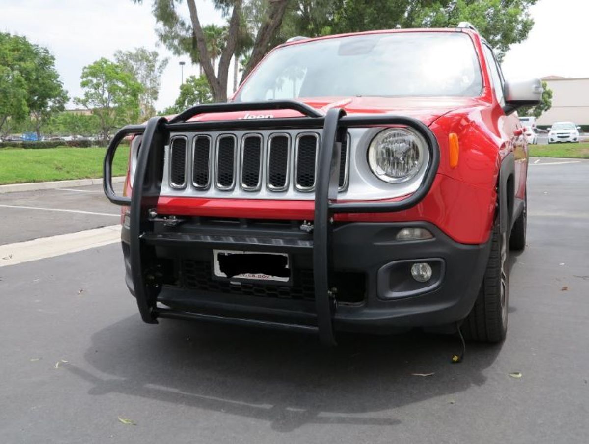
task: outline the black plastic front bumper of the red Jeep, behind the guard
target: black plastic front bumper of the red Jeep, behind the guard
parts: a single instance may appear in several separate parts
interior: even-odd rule
[[[242,221],[243,224],[243,221]],[[289,238],[293,245],[292,224],[273,230],[274,238]],[[434,238],[423,241],[396,241],[403,227],[422,227]],[[267,227],[260,230],[267,233]],[[157,301],[186,313],[205,314],[208,319],[247,319],[315,326],[315,302],[309,292],[284,289],[264,291],[260,287],[240,288],[219,283],[212,278],[210,261],[213,248],[221,245],[194,243],[201,233],[209,238],[230,240],[233,249],[284,251],[293,263],[293,286],[312,283],[313,258],[310,251],[284,247],[237,246],[238,237],[255,236],[256,227],[227,228],[201,222],[187,222],[180,228],[158,227],[146,242],[155,248],[155,256],[165,264]],[[245,231],[244,231],[245,230]],[[282,232],[282,234],[281,234]],[[310,234],[297,234],[305,241]],[[127,267],[127,285],[133,293],[129,255],[129,230],[123,228],[123,252]],[[258,242],[258,244],[263,242]],[[451,240],[437,227],[425,222],[413,223],[342,223],[333,228],[333,283],[335,307],[333,327],[340,331],[393,333],[412,327],[441,327],[464,319],[477,297],[489,254],[489,243],[465,245]],[[227,247],[223,245],[222,247]],[[416,261],[434,265],[434,276],[425,284],[412,279],[409,269]],[[186,268],[186,264],[191,264]],[[209,263],[209,266],[206,266]],[[201,264],[200,274],[194,264]],[[192,267],[192,268],[190,268]],[[203,268],[204,267],[204,268]],[[204,270],[204,272],[203,272]],[[303,273],[306,272],[303,276]],[[347,277],[347,280],[346,280]],[[260,284],[263,287],[263,284]],[[312,288],[312,286],[311,286]]]

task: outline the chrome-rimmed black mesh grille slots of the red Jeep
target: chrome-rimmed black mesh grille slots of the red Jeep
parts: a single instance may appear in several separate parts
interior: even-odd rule
[[[197,190],[209,189],[213,178],[218,190],[230,191],[239,186],[245,191],[257,191],[262,188],[264,176],[270,191],[288,190],[291,177],[297,191],[313,191],[319,147],[317,132],[303,131],[296,135],[274,132],[267,138],[249,133],[239,140],[233,134],[216,138],[197,134],[189,153],[188,139],[174,136],[170,142],[169,181],[172,188],[186,188],[190,163],[192,185]],[[339,190],[348,187],[349,147],[348,134],[340,151]]]

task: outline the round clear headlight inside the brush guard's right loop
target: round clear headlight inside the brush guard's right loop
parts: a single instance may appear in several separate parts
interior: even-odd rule
[[[388,128],[370,142],[368,164],[372,173],[388,183],[415,177],[429,157],[423,137],[409,128]]]

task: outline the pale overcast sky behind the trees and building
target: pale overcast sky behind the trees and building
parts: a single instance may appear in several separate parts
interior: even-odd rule
[[[197,0],[201,22],[220,24],[223,19],[209,1]],[[186,9],[186,4],[180,6]],[[539,0],[532,6],[534,28],[527,41],[513,45],[503,69],[508,78],[589,77],[589,58],[584,57],[589,19],[587,0]],[[82,68],[100,57],[111,58],[117,49],[144,46],[170,58],[162,78],[156,108],[173,104],[184,78],[198,75],[187,57],[171,55],[158,46],[151,15],[151,0],[136,5],[131,0],[0,0],[0,31],[24,35],[55,55],[65,88],[80,95]],[[71,104],[73,106],[73,104]]]

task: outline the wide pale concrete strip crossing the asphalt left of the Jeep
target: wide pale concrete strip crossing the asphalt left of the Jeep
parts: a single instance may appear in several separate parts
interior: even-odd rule
[[[0,245],[0,267],[47,259],[121,241],[121,226],[92,228],[77,233]]]

